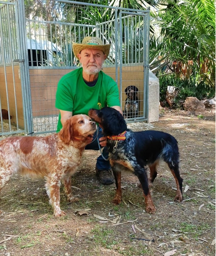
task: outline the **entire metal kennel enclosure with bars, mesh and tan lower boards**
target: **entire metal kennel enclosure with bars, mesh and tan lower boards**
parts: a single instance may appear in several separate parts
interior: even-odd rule
[[[7,108],[12,115],[6,122],[17,127],[13,133],[22,131],[32,135],[56,131],[57,83],[64,74],[80,67],[72,44],[81,43],[86,36],[97,36],[105,44],[111,44],[103,71],[118,83],[122,110],[125,88],[130,85],[138,88],[138,115],[127,122],[148,120],[149,9],[141,11],[67,0],[40,4],[35,1],[25,6],[23,0],[3,3],[0,2],[1,10],[14,6],[15,11],[9,13],[16,17],[15,24],[0,33],[0,72],[3,70],[2,74],[6,74],[5,79],[0,78],[0,108]],[[1,11],[2,28],[14,17]],[[16,31],[15,36],[9,37],[10,30]],[[5,51],[10,41],[13,47]],[[22,95],[22,110],[11,100],[14,96],[7,94],[7,90],[13,90],[6,79],[5,66],[19,67],[17,74],[16,69],[13,71],[12,84],[21,83],[19,93],[14,86],[14,95]],[[5,95],[6,103],[2,100]],[[19,122],[22,118],[23,123]],[[2,128],[0,135],[11,132]]]

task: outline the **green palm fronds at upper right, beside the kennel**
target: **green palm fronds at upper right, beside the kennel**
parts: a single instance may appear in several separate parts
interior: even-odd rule
[[[215,86],[214,2],[167,0],[151,17],[161,27],[160,52],[170,68],[186,77],[200,74]]]

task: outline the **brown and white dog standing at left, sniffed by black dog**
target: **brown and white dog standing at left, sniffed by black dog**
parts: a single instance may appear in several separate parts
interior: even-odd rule
[[[71,176],[81,164],[85,146],[91,142],[97,125],[87,115],[68,119],[59,133],[46,137],[17,136],[0,141],[0,190],[13,174],[45,178],[46,192],[54,216],[60,209],[60,185],[64,183],[69,202],[77,201],[71,192]]]

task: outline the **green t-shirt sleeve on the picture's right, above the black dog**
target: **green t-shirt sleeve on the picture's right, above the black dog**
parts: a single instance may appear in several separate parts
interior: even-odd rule
[[[118,86],[112,78],[109,81],[106,102],[108,107],[121,106],[119,100]]]

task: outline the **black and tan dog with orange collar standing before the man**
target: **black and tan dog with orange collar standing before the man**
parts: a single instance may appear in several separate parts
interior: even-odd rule
[[[146,202],[146,212],[155,213],[149,185],[157,176],[157,166],[160,160],[165,161],[177,185],[175,201],[181,202],[182,181],[179,173],[179,150],[176,139],[165,132],[141,131],[132,132],[127,129],[127,124],[122,115],[111,107],[101,110],[90,109],[88,115],[92,120],[98,122],[107,137],[109,150],[109,161],[115,177],[116,194],[113,199],[115,205],[122,200],[121,172],[129,170],[133,172],[140,181]],[[146,174],[145,166],[150,168],[150,177]]]

